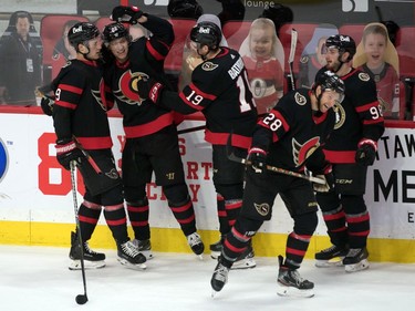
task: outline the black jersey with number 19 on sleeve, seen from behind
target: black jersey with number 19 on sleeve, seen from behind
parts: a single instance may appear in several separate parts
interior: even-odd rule
[[[221,48],[218,55],[194,70],[189,85],[179,94],[164,91],[160,102],[183,114],[200,111],[206,118],[207,142],[226,145],[232,132],[232,145],[248,148],[257,122],[257,108],[248,85],[239,53]]]

